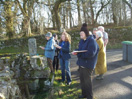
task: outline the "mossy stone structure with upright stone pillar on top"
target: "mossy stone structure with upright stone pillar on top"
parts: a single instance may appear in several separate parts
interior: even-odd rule
[[[10,58],[10,68],[4,66],[4,69],[1,69],[0,99],[23,99],[30,97],[29,91],[48,89],[52,86],[54,76],[50,77],[46,57],[37,55],[36,39],[29,39],[28,46],[29,56],[18,54]]]

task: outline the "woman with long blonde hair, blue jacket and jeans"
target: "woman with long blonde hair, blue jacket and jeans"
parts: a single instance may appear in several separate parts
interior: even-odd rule
[[[60,59],[62,82],[65,82],[65,74],[66,74],[67,85],[70,85],[72,81],[71,72],[70,72],[70,58],[71,58],[69,54],[70,46],[71,46],[70,35],[66,32],[62,33],[61,40],[57,48],[60,49],[58,57]]]

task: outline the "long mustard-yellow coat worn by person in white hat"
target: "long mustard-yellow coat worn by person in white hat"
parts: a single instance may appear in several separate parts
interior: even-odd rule
[[[103,39],[99,38],[97,40],[97,43],[99,45],[99,54],[95,68],[95,74],[104,74],[105,72],[107,72],[107,63],[106,63],[106,52],[104,50]]]

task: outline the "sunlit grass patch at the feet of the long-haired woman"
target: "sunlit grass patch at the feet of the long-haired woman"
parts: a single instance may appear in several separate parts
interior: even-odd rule
[[[81,94],[79,83],[72,81],[70,86],[59,82],[61,79],[61,71],[58,71],[55,76],[53,88],[47,93],[37,94],[34,99],[78,99]]]

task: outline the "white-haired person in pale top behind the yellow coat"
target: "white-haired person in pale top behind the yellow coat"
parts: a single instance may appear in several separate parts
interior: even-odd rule
[[[105,29],[103,26],[99,26],[98,27],[98,30],[102,32],[103,34],[103,41],[104,41],[104,49],[106,51],[106,47],[107,47],[107,44],[108,44],[108,33],[105,32]]]

